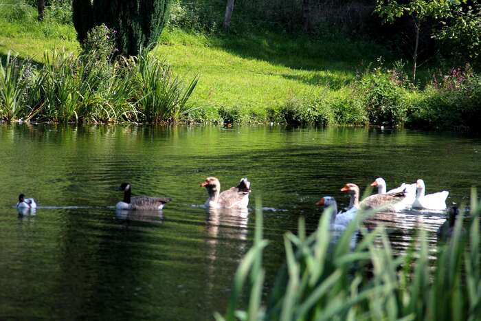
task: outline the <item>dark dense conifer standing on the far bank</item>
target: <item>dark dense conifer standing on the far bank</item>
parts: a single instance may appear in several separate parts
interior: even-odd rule
[[[118,52],[135,56],[157,43],[168,19],[170,0],[74,0],[74,26],[80,43],[104,23],[117,32]]]

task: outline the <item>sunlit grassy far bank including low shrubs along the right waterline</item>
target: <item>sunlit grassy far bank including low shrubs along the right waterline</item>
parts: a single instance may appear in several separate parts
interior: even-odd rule
[[[15,14],[0,8],[3,55],[12,49],[45,64],[44,51],[60,47],[80,52],[70,23],[48,14],[38,23],[28,6]],[[188,101],[188,109],[198,108],[184,120],[449,128],[472,127],[481,116],[481,78],[469,66],[424,69],[413,84],[408,66],[393,63],[388,49],[334,31],[212,34],[169,27],[153,54],[183,79],[199,76]]]

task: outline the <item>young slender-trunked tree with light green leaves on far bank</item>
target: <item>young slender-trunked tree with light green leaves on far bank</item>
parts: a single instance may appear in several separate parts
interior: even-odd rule
[[[396,0],[377,0],[375,11],[389,23],[394,22],[404,15],[412,17],[415,32],[414,52],[412,56],[413,80],[416,80],[421,25],[425,23],[427,18],[441,19],[451,16],[451,9],[458,4],[458,0],[409,0],[407,2],[403,1],[402,3]]]

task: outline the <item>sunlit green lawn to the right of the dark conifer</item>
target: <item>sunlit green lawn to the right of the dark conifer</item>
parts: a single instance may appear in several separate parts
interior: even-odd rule
[[[287,100],[348,95],[356,71],[375,60],[375,49],[270,32],[221,38],[166,30],[153,52],[179,74],[199,75],[192,97],[197,104],[265,109]]]

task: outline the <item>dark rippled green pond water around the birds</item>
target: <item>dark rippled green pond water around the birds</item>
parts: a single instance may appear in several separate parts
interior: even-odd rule
[[[283,262],[282,234],[339,188],[388,188],[423,178],[467,203],[481,179],[481,140],[456,133],[279,127],[0,126],[0,319],[207,320],[224,311],[232,276],[254,236],[254,214],[199,207],[205,177],[224,188],[247,176],[262,197],[268,280]],[[116,214],[115,190],[172,197],[162,213]],[[36,215],[12,208],[19,192]],[[70,206],[71,208],[67,208]],[[75,208],[79,206],[80,208]],[[82,208],[83,207],[83,208]],[[416,228],[436,243],[442,214],[378,214],[396,252]]]

